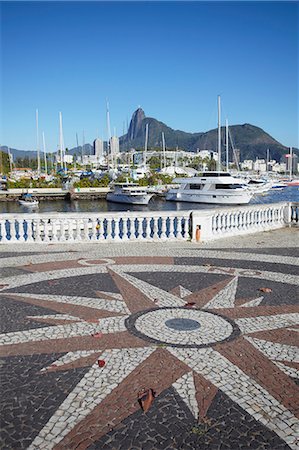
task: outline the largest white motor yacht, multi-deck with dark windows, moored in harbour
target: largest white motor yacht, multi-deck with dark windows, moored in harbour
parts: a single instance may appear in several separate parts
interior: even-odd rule
[[[176,178],[178,188],[166,194],[166,200],[192,203],[243,205],[253,197],[244,182],[228,172],[203,172],[193,178]]]

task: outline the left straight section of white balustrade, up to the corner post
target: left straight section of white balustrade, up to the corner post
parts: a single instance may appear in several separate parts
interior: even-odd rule
[[[0,216],[0,243],[187,240],[190,211],[27,213]]]

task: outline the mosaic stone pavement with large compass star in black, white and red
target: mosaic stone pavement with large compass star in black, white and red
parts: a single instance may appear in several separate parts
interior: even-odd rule
[[[298,449],[288,233],[252,248],[6,246],[0,448]]]

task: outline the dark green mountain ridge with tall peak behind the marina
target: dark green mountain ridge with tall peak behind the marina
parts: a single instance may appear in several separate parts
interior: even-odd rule
[[[161,148],[162,132],[164,132],[167,148],[178,147],[193,152],[198,149],[214,151],[217,149],[217,129],[199,133],[186,133],[181,130],[173,130],[163,122],[146,117],[144,111],[138,108],[132,115],[127,134],[120,137],[120,147],[122,150],[131,147],[144,148],[146,124],[148,124],[149,129],[148,148]],[[232,125],[229,127],[229,132],[234,148],[240,150],[242,161],[244,159],[265,159],[268,148],[270,149],[270,158],[276,161],[280,161],[283,155],[289,153],[288,147],[276,141],[264,130],[254,125],[248,123],[244,125]],[[221,133],[223,137],[222,142],[224,142],[224,127],[221,128]]]

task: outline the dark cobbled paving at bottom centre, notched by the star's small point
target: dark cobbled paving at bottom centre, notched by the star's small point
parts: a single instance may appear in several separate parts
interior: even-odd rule
[[[88,447],[88,450],[287,450],[289,446],[223,393],[208,411],[208,420],[196,422],[173,389],[156,398],[147,414],[141,411]]]

